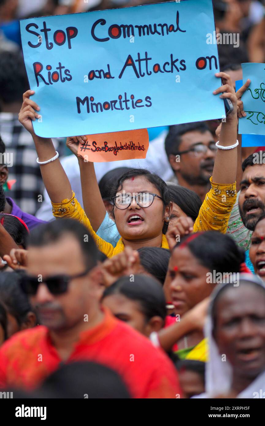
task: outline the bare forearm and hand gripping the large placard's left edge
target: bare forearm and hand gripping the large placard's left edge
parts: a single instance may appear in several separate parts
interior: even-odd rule
[[[20,123],[32,135],[39,161],[48,161],[56,155],[52,139],[40,138],[34,132],[32,120],[39,118],[40,107],[30,99],[34,95],[33,90],[27,90],[23,94],[23,104],[18,115]],[[52,202],[60,203],[63,199],[72,198],[72,189],[69,179],[63,170],[60,160],[57,158],[48,164],[40,165],[40,172],[44,185]]]

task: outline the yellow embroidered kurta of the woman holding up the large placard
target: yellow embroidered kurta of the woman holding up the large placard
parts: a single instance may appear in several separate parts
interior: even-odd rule
[[[236,201],[236,184],[232,185],[217,185],[214,184],[210,178],[211,189],[205,197],[205,201],[202,203],[202,207],[199,211],[193,230],[206,231],[206,230],[218,230],[222,233],[226,232],[228,225],[228,219],[233,205]],[[61,203],[52,203],[53,215],[64,218],[77,219],[83,223],[89,233],[95,240],[98,249],[102,251],[107,257],[115,256],[115,254],[121,253],[124,250],[124,243],[122,238],[119,239],[116,247],[99,237],[93,230],[89,219],[81,207],[75,193],[72,193],[72,198],[63,200]],[[162,235],[161,248],[169,248],[166,236]]]

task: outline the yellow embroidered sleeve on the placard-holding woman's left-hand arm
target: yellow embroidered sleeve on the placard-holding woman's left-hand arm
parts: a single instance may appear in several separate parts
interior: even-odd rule
[[[79,222],[83,223],[95,240],[98,249],[102,251],[102,253],[106,254],[107,257],[112,256],[114,250],[113,245],[100,238],[95,233],[89,222],[89,219],[86,216],[86,213],[84,212],[84,209],[82,209],[81,205],[75,198],[74,192],[72,192],[72,198],[70,200],[65,199],[61,203],[52,203],[52,213],[56,218],[72,218],[77,219]]]

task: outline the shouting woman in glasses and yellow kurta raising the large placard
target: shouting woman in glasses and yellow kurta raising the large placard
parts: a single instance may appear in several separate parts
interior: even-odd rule
[[[229,98],[233,103],[233,111],[222,124],[219,148],[210,178],[212,188],[207,194],[200,213],[194,224],[194,231],[215,229],[225,232],[230,211],[236,200],[236,163],[237,153],[234,149],[238,142],[236,95],[231,79],[224,72],[216,74],[222,78],[223,85],[213,94],[220,94],[220,98]],[[225,93],[223,93],[225,92]],[[124,246],[138,249],[141,247],[168,248],[165,232],[170,218],[170,196],[167,185],[157,175],[147,170],[135,169],[125,173],[118,181],[113,194],[113,213],[121,239],[113,247],[101,239],[93,230],[85,211],[81,208],[72,193],[72,188],[63,167],[58,160],[58,153],[51,139],[40,138],[35,135],[32,121],[39,117],[40,107],[30,99],[33,91],[23,95],[23,104],[19,114],[20,123],[32,134],[38,154],[37,162],[43,177],[46,190],[52,201],[52,211],[55,217],[72,217],[83,222],[92,234],[98,248],[108,257],[124,250]],[[73,142],[83,142],[85,136],[71,138]],[[88,163],[79,161],[81,169],[81,183],[83,199],[86,203],[85,179]],[[89,182],[90,184],[91,182]],[[103,202],[101,200],[101,202]],[[86,210],[86,207],[85,207]],[[84,236],[85,238],[85,236]]]

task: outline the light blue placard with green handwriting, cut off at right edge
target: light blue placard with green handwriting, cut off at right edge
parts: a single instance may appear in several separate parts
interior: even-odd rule
[[[251,84],[242,96],[247,116],[239,120],[239,133],[265,135],[265,63],[242,63],[243,80]]]

